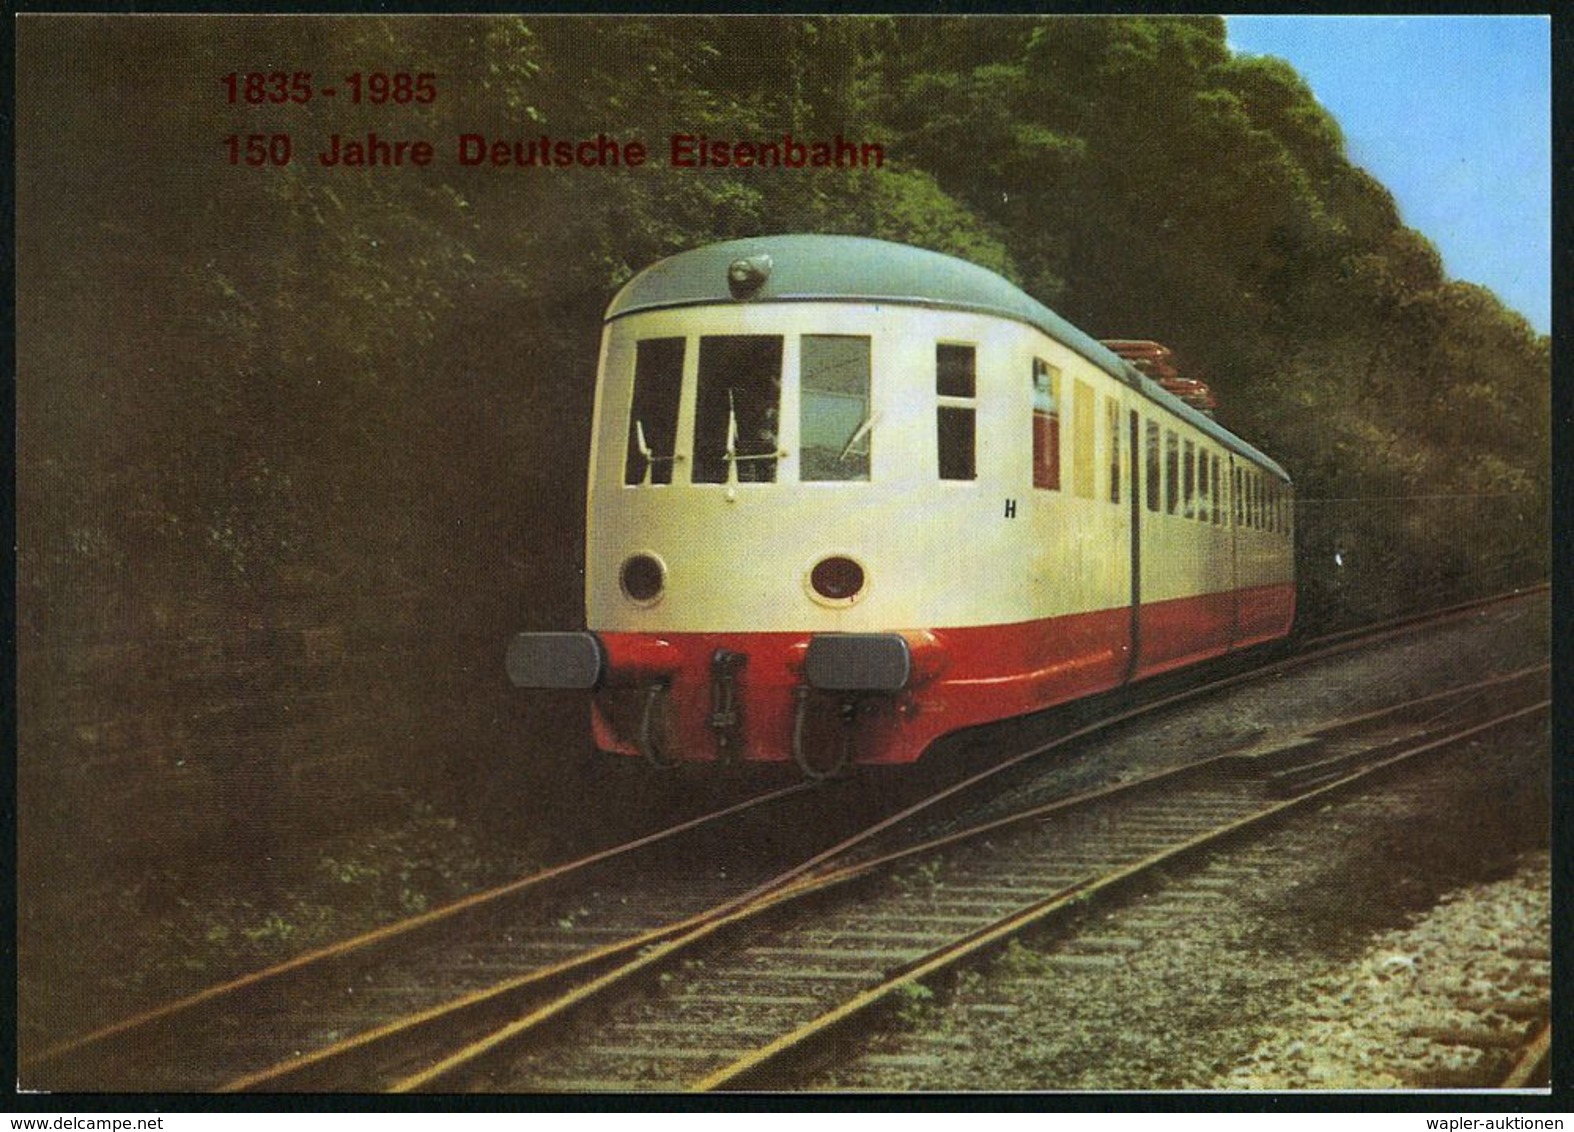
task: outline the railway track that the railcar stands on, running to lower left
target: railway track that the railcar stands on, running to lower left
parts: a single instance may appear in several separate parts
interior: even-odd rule
[[[1385,634],[1407,631],[1413,623],[1388,627]],[[1299,657],[1267,671],[1284,671],[1369,639],[1311,642]],[[733,924],[817,899],[817,893],[853,883],[863,869],[892,867],[847,861],[858,855],[894,861],[916,852],[907,845],[881,856],[878,847],[900,845],[897,831],[911,830],[919,814],[938,819],[948,803],[971,797],[976,787],[1050,749],[1261,675],[1228,677],[1062,735],[784,867],[735,867],[730,877],[721,871],[683,874],[682,885],[671,883],[674,874],[663,860],[671,864],[688,858],[694,838],[724,845],[729,822],[787,805],[806,787],[773,790],[60,1044],[24,1063],[22,1078],[28,1086],[57,1089],[427,1088],[512,1045],[519,1033],[546,1030],[543,1022],[575,1015],[582,1003],[600,1001],[642,971],[653,971],[658,986],[661,976],[677,978],[672,964],[689,962],[696,945]],[[1165,771],[1155,781],[1195,773]],[[1018,816],[1007,823],[1020,820],[1034,819]],[[833,869],[833,863],[841,867]],[[809,880],[814,871],[829,872]],[[1053,886],[1055,879],[1048,880]],[[1091,874],[1073,879],[1062,896],[1075,899],[1089,883]],[[916,959],[903,962],[913,967]],[[831,982],[845,986],[841,976]],[[749,1006],[749,995],[737,992],[729,1001]],[[455,1045],[464,1047],[464,1056],[452,1053]],[[444,1069],[433,1074],[436,1066]]]

